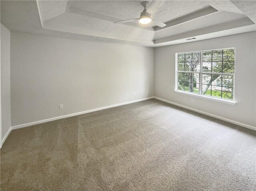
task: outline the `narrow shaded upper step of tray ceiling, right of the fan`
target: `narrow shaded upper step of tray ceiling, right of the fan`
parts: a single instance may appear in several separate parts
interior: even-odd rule
[[[212,13],[215,13],[215,12],[218,12],[218,10],[216,10],[215,8],[209,6],[207,8],[198,10],[198,11],[193,12],[191,14],[188,14],[188,15],[182,16],[180,18],[177,18],[175,20],[169,21],[169,22],[165,23],[166,24],[165,27],[158,27],[158,26],[154,27],[154,30],[155,31],[164,30],[166,28],[169,28],[169,27],[172,27],[172,26],[176,26],[178,24],[182,24],[184,22],[188,22],[188,21],[200,18],[202,16],[206,16],[208,14],[212,14]]]

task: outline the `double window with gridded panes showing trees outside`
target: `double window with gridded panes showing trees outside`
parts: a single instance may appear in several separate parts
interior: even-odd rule
[[[176,91],[234,100],[234,48],[177,53],[176,65]]]

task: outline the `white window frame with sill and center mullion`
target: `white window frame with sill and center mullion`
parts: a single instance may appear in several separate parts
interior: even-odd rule
[[[200,51],[187,51],[187,52],[179,52],[179,53],[188,53],[188,52],[200,52],[200,72],[190,72],[190,73],[199,73],[199,93],[192,93],[192,92],[187,92],[187,91],[180,91],[178,90],[178,54],[175,54],[175,90],[174,92],[176,93],[180,93],[180,94],[184,94],[184,95],[190,95],[190,96],[195,96],[195,97],[200,97],[200,98],[204,98],[204,99],[208,99],[208,100],[213,100],[213,101],[218,101],[218,102],[222,102],[222,103],[227,103],[227,104],[236,104],[235,102],[235,65],[236,65],[236,49],[235,49],[235,60],[234,60],[234,73],[230,74],[230,73],[218,73],[220,75],[233,75],[233,81],[234,81],[234,85],[233,85],[233,100],[230,99],[225,99],[225,98],[218,98],[218,97],[214,97],[214,96],[208,96],[208,95],[203,95],[202,94],[202,74],[216,74],[216,73],[212,73],[212,72],[203,72],[202,71],[202,52],[203,51],[214,51],[214,50],[223,50],[223,49],[235,49],[234,47],[232,48],[220,48],[220,49],[211,49],[211,50],[200,50]]]

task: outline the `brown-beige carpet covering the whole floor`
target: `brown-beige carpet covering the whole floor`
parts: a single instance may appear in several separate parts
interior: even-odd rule
[[[13,130],[1,191],[256,189],[255,132],[156,99]]]

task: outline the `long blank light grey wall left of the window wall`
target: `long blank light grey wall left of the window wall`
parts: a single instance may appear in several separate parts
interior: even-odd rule
[[[153,96],[153,75],[153,48],[12,32],[12,126]]]

